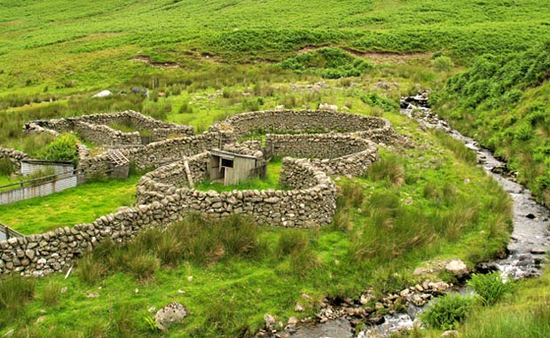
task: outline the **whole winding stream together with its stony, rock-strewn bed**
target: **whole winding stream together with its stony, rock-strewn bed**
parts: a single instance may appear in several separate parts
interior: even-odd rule
[[[546,251],[550,248],[550,211],[539,205],[528,189],[515,182],[513,173],[508,172],[504,161],[499,161],[493,154],[480,146],[473,138],[452,130],[447,122],[438,118],[428,106],[428,93],[401,99],[401,114],[405,114],[420,123],[421,128],[444,130],[459,139],[477,154],[478,165],[491,175],[510,194],[514,205],[514,231],[507,245],[507,257],[497,261],[481,263],[476,272],[501,271],[504,279],[522,279],[537,277],[542,273]],[[436,269],[454,269],[460,277],[460,271],[468,275],[468,269],[460,261],[444,262]],[[414,274],[414,273],[413,273]],[[452,286],[441,281],[424,280],[413,287],[408,287],[396,295],[386,295],[375,299],[369,290],[358,300],[327,300],[321,304],[317,318],[297,320],[290,318],[287,326],[281,329],[282,323],[266,315],[266,329],[256,334],[258,337],[288,338],[373,338],[387,337],[390,334],[413,327],[415,318],[430,300],[446,292],[466,292],[464,287]],[[373,308],[365,307],[376,301]],[[393,309],[396,304],[406,311],[387,311],[388,314],[377,315],[376,310]],[[354,328],[355,327],[355,328]],[[358,329],[363,327],[362,329]],[[279,330],[278,330],[279,328]]]

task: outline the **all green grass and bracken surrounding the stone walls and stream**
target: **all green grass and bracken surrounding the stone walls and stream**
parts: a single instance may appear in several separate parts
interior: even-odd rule
[[[318,230],[190,216],[126,246],[103,242],[68,279],[2,278],[0,334],[249,337],[265,313],[314,317],[326,299],[413,286],[426,262],[504,255],[507,194],[460,142],[398,114],[398,100],[432,90],[437,114],[550,205],[549,36],[550,2],[536,0],[0,0],[0,145],[33,157],[53,142],[23,132],[36,119],[132,109],[202,132],[232,114],[319,103],[387,118],[412,146],[381,147],[380,163],[338,178],[334,222]],[[91,98],[99,90],[114,95]],[[198,186],[273,188],[279,169]],[[17,180],[4,171],[0,183]],[[132,203],[138,178],[3,206],[0,221],[24,233],[90,222]],[[546,336],[548,276],[476,307],[460,332]],[[191,315],[161,333],[148,310],[172,301]]]

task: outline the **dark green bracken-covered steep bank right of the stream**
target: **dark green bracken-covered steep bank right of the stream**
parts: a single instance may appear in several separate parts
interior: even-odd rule
[[[434,98],[439,114],[475,135],[518,171],[518,178],[550,205],[547,80],[550,42],[527,51],[488,54],[453,76]]]

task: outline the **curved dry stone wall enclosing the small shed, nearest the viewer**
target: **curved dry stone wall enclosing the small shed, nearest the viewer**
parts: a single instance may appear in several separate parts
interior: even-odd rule
[[[279,185],[292,190],[245,190],[226,193],[199,191],[188,184],[184,162],[193,180],[206,177],[208,153],[200,154],[146,174],[137,186],[138,203],[169,200],[179,214],[190,212],[220,218],[247,215],[257,224],[286,227],[318,227],[329,224],[336,209],[334,182],[306,159],[283,160]]]

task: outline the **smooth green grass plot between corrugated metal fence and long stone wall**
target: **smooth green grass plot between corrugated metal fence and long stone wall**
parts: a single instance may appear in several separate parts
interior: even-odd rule
[[[133,203],[138,180],[135,176],[127,180],[86,183],[61,193],[0,206],[1,221],[27,235],[89,223]]]

